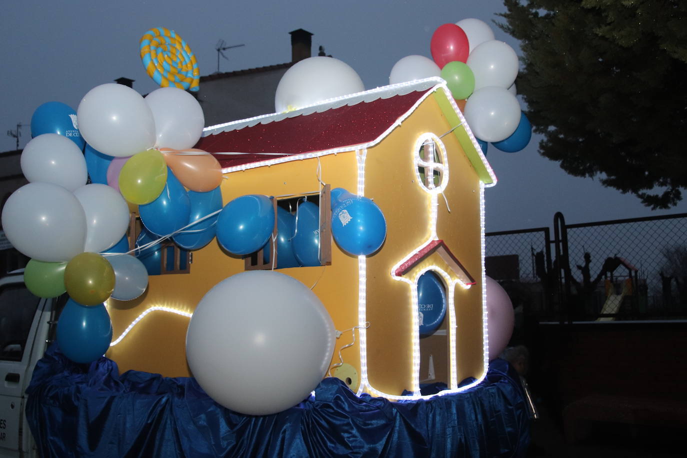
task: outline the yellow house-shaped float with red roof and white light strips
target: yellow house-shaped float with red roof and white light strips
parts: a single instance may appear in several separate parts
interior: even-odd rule
[[[341,331],[333,375],[357,393],[387,398],[420,396],[421,382],[444,382],[441,393],[455,393],[484,378],[484,187],[496,179],[443,80],[212,126],[196,147],[223,167],[224,204],[245,194],[324,196],[322,215],[322,191],[343,187],[383,211],[387,235],[375,253],[339,249],[322,220],[321,247],[330,242],[323,265],[279,270],[312,287]],[[150,276],[135,301],[111,299],[116,345],[108,356],[122,370],[188,376],[187,317],[207,290],[247,266],[213,240],[192,253],[188,273]],[[420,337],[418,278],[427,271],[440,279],[447,311]],[[459,388],[466,378],[475,381]]]

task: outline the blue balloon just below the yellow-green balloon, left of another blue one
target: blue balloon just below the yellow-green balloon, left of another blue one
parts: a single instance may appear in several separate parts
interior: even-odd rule
[[[167,169],[167,183],[155,201],[138,206],[141,222],[148,231],[168,236],[188,225],[191,202],[183,185]]]

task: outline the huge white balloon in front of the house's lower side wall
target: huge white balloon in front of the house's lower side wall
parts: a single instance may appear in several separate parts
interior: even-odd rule
[[[186,358],[216,402],[269,415],[308,397],[326,374],[334,343],[334,323],[310,288],[282,273],[246,271],[201,299]]]

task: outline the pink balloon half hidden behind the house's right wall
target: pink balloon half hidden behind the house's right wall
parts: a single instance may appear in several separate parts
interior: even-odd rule
[[[506,350],[513,335],[515,312],[506,290],[498,282],[486,277],[486,329],[489,334],[489,360]]]

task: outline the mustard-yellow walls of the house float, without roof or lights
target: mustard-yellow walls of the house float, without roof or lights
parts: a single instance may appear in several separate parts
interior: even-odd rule
[[[365,288],[365,320],[370,322],[366,332],[368,379],[374,389],[383,393],[400,394],[403,389],[413,386],[412,314],[416,310],[412,307],[411,287],[392,278],[392,267],[414,252],[430,235],[430,196],[416,183],[414,145],[423,133],[441,136],[455,126],[451,125],[455,119],[447,119],[445,111],[439,109],[442,97],[435,95],[426,98],[401,126],[366,152],[364,194],[374,199],[387,220],[387,238],[383,247],[366,259]],[[443,102],[446,103],[445,100]],[[466,134],[461,133],[460,128],[442,137],[449,163],[449,183],[444,195],[451,211],[447,211],[444,199],[439,196],[437,221],[438,238],[444,240],[475,279],[471,288],[455,286],[452,305],[456,319],[458,380],[451,380],[454,383],[469,376],[480,378],[486,369],[480,177],[466,157],[459,137],[465,141]],[[322,156],[319,159],[322,181],[355,193],[358,187],[357,154],[361,154],[361,151]],[[226,174],[227,179],[222,185],[223,201],[226,204],[245,194],[282,196],[313,192],[319,189],[317,168],[317,159],[304,159]],[[343,253],[334,242],[332,252],[330,266],[284,268],[279,271],[292,275],[307,286],[317,283],[313,291],[326,306],[336,328],[345,330],[359,324],[359,260]],[[416,272],[431,264],[453,275],[451,268],[437,253],[414,266],[407,275],[412,278]],[[207,290],[243,270],[243,260],[227,255],[215,239],[207,247],[194,251],[191,273],[150,276],[148,290],[141,298],[128,302],[111,300],[109,311],[113,335],[119,336],[129,323],[150,306],[168,306],[192,312]],[[250,307],[250,304],[245,306]],[[445,322],[447,320],[448,314]],[[121,371],[137,369],[164,376],[189,376],[185,360],[187,326],[186,317],[166,312],[150,313],[121,343],[111,347],[107,356],[118,363]],[[453,332],[451,323],[443,328]],[[212,336],[209,338],[212,339]],[[338,362],[339,348],[348,343],[350,332],[337,340],[333,363]],[[345,363],[353,365],[361,374],[359,343],[360,339],[357,339],[354,346],[343,350],[342,356]],[[288,345],[288,342],[283,345]],[[431,347],[435,361],[449,358],[449,349],[437,354],[441,351],[440,345]],[[427,354],[422,356],[424,366],[427,358]]]

